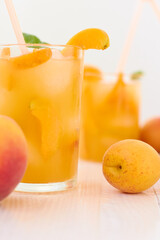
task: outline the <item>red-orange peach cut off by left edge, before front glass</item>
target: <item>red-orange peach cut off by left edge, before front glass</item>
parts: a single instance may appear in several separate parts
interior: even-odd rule
[[[21,181],[27,166],[27,142],[18,124],[0,115],[0,200]]]

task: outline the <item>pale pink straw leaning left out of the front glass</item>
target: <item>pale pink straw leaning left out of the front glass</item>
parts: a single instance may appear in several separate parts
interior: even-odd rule
[[[12,0],[5,0],[5,4],[6,4],[7,10],[8,10],[8,14],[9,14],[16,38],[17,38],[17,42],[18,42],[18,44],[25,44],[22,30],[21,30]],[[22,54],[28,53],[28,49],[25,45],[19,45],[19,47],[20,47]]]

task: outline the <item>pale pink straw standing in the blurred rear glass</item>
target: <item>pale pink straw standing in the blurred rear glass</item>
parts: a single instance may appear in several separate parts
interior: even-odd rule
[[[119,60],[118,66],[117,66],[117,72],[123,72],[124,71],[124,67],[126,65],[128,55],[129,55],[129,51],[130,51],[130,48],[131,48],[131,45],[132,45],[132,42],[133,42],[133,38],[135,36],[135,32],[136,32],[136,29],[137,29],[137,25],[139,23],[139,19],[140,19],[141,13],[142,13],[143,2],[144,1],[145,0],[140,0],[139,1],[137,9],[136,9],[136,11],[133,15],[133,19],[131,21],[131,25],[130,25],[129,32],[128,32],[128,35],[127,35],[127,39],[125,41],[125,44],[124,44],[124,47],[123,47],[123,50],[122,50],[122,54],[121,54],[121,57],[120,57],[120,60]]]

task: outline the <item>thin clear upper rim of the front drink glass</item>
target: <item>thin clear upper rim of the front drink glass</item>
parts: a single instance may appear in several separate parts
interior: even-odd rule
[[[67,44],[46,44],[46,43],[9,43],[9,44],[0,44],[0,47],[18,47],[18,46],[27,46],[27,47],[67,47],[67,48],[77,48],[78,50],[84,51],[83,48],[76,45],[67,45]]]

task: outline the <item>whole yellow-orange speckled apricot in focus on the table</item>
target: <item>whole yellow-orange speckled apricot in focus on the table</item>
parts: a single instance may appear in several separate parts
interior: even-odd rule
[[[160,178],[160,156],[147,143],[123,140],[106,151],[103,174],[112,186],[122,192],[142,192]]]

